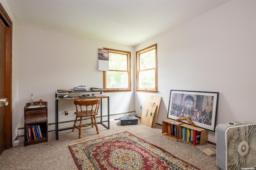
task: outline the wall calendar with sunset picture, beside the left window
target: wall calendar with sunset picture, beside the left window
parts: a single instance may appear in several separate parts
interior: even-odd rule
[[[109,52],[106,49],[98,50],[98,70],[108,71]]]

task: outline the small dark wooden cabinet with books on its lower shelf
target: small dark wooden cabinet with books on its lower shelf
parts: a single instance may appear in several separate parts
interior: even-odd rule
[[[33,103],[34,106],[38,102]],[[26,103],[24,107],[24,146],[37,144],[40,142],[48,142],[48,111],[47,102],[44,102],[44,107],[29,108],[30,103]],[[41,138],[34,138],[31,130],[31,140],[28,140],[28,127],[38,126],[42,134]]]

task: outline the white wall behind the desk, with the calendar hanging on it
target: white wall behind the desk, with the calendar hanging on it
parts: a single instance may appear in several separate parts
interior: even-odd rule
[[[24,127],[24,105],[30,102],[30,93],[34,93],[34,101],[39,99],[48,101],[48,123],[55,123],[57,89],[70,89],[76,85],[86,85],[88,89],[103,88],[103,72],[98,71],[99,48],[106,47],[134,53],[134,47],[131,46],[28,26],[19,26],[19,40],[19,128]],[[132,63],[134,63],[133,57]],[[132,64],[132,69],[134,65]],[[133,91],[104,93],[104,95],[110,96],[110,114],[134,111]],[[105,111],[103,114],[106,115],[106,100],[103,103],[103,111]],[[67,116],[64,114],[65,110],[69,111]],[[59,102],[59,121],[74,120],[74,110],[73,102]]]

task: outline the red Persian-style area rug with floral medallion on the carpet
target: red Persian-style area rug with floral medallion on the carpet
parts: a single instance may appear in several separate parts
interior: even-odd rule
[[[127,131],[68,147],[82,170],[199,170]]]

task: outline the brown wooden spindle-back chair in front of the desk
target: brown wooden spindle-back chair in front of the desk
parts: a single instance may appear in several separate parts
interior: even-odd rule
[[[74,129],[77,128],[79,130],[79,138],[81,138],[82,127],[95,126],[97,130],[97,134],[99,134],[95,116],[98,115],[100,100],[101,99],[74,101],[74,104],[76,105],[76,112],[75,112],[76,120],[72,129],[72,132],[74,132]],[[76,126],[76,121],[77,121],[77,118],[79,117],[80,117],[80,125]],[[82,125],[82,118],[84,117],[91,117],[92,123],[87,125]]]

